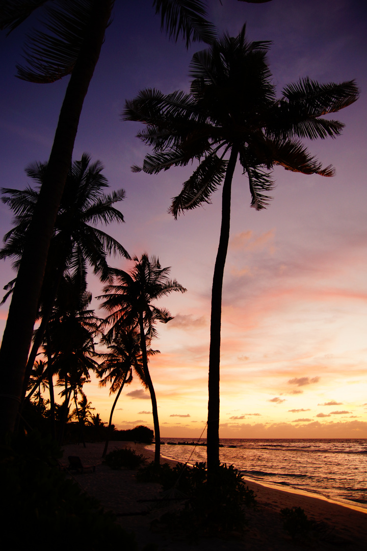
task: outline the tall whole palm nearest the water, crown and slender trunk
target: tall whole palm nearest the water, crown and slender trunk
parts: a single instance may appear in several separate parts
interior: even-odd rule
[[[270,170],[281,165],[303,174],[332,176],[298,138],[336,137],[343,124],[323,118],[358,98],[354,81],[318,84],[308,78],[288,85],[276,99],[267,64],[270,42],[248,42],[245,26],[237,37],[224,35],[194,54],[190,94],[163,95],[143,90],[127,101],[124,120],[144,122],[138,137],[154,151],[146,155],[144,170],[157,174],[193,159],[198,167],[184,182],[171,204],[175,218],[185,210],[210,203],[223,182],[220,242],[215,262],[210,324],[207,466],[219,464],[221,301],[231,214],[231,186],[239,159],[248,177],[251,207],[266,208],[273,180]]]

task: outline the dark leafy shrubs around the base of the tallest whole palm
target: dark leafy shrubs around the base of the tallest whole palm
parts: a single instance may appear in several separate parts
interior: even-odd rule
[[[253,490],[245,486],[242,474],[233,465],[221,465],[210,477],[208,481],[205,463],[195,463],[193,468],[178,463],[172,469],[168,463],[160,467],[150,463],[138,471],[136,478],[160,482],[162,500],[183,501],[182,510],[161,518],[167,526],[184,526],[190,535],[242,531],[246,526],[245,506],[256,504]]]

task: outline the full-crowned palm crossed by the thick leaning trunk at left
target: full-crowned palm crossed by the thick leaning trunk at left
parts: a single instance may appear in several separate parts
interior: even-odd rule
[[[1,190],[2,202],[8,204],[16,215],[16,225],[4,236],[5,246],[0,251],[0,259],[14,258],[13,267],[16,270],[23,256],[25,236],[35,212],[46,171],[47,163],[31,164],[26,168],[26,174],[36,182],[35,188],[28,186],[25,190],[10,188]],[[124,190],[114,191],[111,194],[104,193],[108,182],[102,171],[101,161],[91,163],[90,155],[86,153],[82,155],[80,161],[74,161],[70,166],[48,251],[38,316],[41,317],[41,324],[35,334],[28,358],[24,390],[41,345],[63,273],[69,273],[74,279],[77,277],[80,284],[84,285],[86,284],[86,266],[90,264],[94,273],[106,282],[109,279],[107,254],[130,258],[128,252],[116,239],[96,228],[98,223],[124,222],[122,213],[114,207],[114,204],[123,201]],[[8,293],[3,301],[12,293],[14,283],[15,279],[7,285]]]

